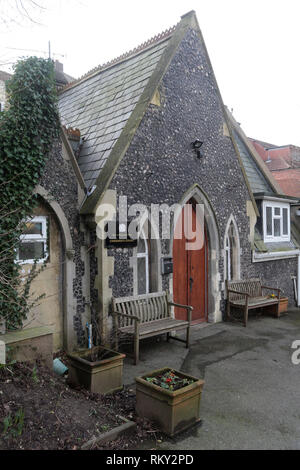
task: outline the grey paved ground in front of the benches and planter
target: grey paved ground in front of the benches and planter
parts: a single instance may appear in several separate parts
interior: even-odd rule
[[[300,340],[300,310],[279,320],[250,319],[248,327],[195,327],[189,351],[165,341],[142,347],[141,362],[126,360],[125,383],[165,365],[205,380],[202,426],[159,449],[300,449],[300,364],[291,349]]]

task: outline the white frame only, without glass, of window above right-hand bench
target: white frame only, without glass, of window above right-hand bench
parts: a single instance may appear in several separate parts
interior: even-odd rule
[[[267,234],[267,207],[272,208],[272,235]],[[280,209],[280,215],[275,214],[275,208]],[[283,234],[283,209],[287,209],[288,233]],[[280,220],[280,235],[274,235],[274,219]],[[291,240],[290,204],[275,201],[263,201],[263,232],[264,242],[289,242]]]

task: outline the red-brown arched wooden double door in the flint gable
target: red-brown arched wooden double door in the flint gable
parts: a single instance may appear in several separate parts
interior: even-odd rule
[[[182,209],[178,218],[173,240],[173,298],[174,302],[193,307],[192,320],[202,322],[207,320],[207,236],[205,227],[197,222],[196,205],[190,201],[190,210]],[[188,214],[187,214],[188,212]],[[186,220],[186,222],[185,222]],[[189,229],[185,229],[185,223]],[[191,232],[197,231],[201,240],[200,248],[191,249],[194,240]],[[182,235],[176,238],[175,234]],[[194,245],[195,247],[196,245]],[[175,317],[186,319],[184,309],[175,308]]]

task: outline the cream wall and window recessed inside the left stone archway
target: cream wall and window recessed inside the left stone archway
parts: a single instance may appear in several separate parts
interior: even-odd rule
[[[31,306],[23,327],[48,326],[53,331],[54,351],[63,347],[63,245],[55,212],[42,198],[28,218],[18,248],[21,281],[33,269],[37,276],[30,286]],[[34,260],[36,266],[34,268]]]

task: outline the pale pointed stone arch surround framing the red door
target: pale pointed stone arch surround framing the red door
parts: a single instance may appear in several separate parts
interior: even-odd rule
[[[200,187],[195,184],[193,185],[182,197],[180,201],[181,209],[184,207],[185,204],[192,202],[193,204],[197,203],[202,205],[203,208],[203,234],[204,234],[204,246],[205,252],[202,252],[202,256],[205,255],[204,262],[205,262],[205,319],[201,319],[200,321],[208,321],[208,322],[217,322],[222,320],[222,313],[221,313],[221,290],[220,290],[220,269],[219,269],[219,259],[220,259],[220,236],[219,230],[216,222],[216,217],[214,210],[211,206],[211,203],[207,197],[207,195],[200,189]],[[179,211],[180,212],[180,211]],[[174,254],[174,242],[176,247],[176,241],[174,239],[174,233],[176,229],[176,225],[179,219],[179,212],[175,214],[174,222],[173,222],[173,238],[171,240],[170,246],[170,253]],[[174,259],[173,259],[174,261]],[[196,262],[197,263],[197,262]],[[176,289],[176,261],[175,266],[173,266],[173,276],[170,279],[170,292],[173,295],[173,299],[176,299],[176,293],[174,297],[174,288]],[[203,273],[203,261],[202,261],[202,273]],[[193,277],[193,276],[192,276]],[[175,281],[175,283],[174,283]],[[189,281],[189,279],[188,279]],[[195,280],[194,280],[195,282]],[[193,285],[195,285],[193,283]],[[176,314],[176,312],[175,312]],[[203,317],[203,315],[202,315]],[[196,322],[199,319],[195,320]]]

